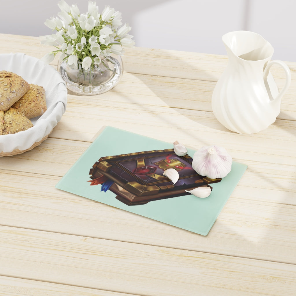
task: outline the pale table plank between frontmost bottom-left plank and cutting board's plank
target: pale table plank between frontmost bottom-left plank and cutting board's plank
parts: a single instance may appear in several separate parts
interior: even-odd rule
[[[158,296],[288,295],[296,287],[292,264],[4,226],[0,237],[2,272],[26,270],[37,281]]]

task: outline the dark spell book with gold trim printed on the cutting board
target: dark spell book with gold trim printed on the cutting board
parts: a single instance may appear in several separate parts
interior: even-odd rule
[[[200,186],[218,183],[222,179],[200,176],[192,168],[192,158],[178,156],[174,149],[152,150],[101,157],[89,171],[90,185],[101,184],[101,191],[112,191],[126,205],[144,205],[155,200],[179,197]],[[168,168],[178,171],[173,182],[163,176]]]

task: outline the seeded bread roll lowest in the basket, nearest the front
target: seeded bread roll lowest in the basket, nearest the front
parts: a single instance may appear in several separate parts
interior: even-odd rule
[[[31,121],[23,113],[14,108],[9,108],[7,111],[0,111],[0,135],[18,133],[32,126]]]

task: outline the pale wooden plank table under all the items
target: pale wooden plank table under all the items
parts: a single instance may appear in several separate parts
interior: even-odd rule
[[[51,50],[35,37],[0,40],[0,53]],[[0,158],[1,296],[296,295],[296,63],[276,122],[241,135],[211,111],[227,61],[128,49],[115,89],[69,94],[46,141]],[[217,144],[248,165],[206,237],[55,189],[103,126],[193,149]]]

